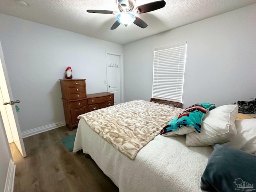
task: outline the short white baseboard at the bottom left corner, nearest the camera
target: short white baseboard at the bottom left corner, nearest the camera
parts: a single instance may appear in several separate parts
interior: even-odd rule
[[[16,168],[16,165],[14,165],[14,161],[10,159],[8,172],[6,176],[6,182],[4,186],[4,192],[13,192],[15,168]]]

